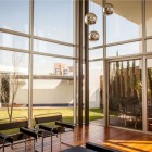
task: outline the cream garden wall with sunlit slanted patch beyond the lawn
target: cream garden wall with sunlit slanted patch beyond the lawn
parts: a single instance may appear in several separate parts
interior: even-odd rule
[[[33,103],[45,104],[72,104],[73,80],[34,80]],[[28,104],[28,81],[22,85],[15,98],[16,104]]]

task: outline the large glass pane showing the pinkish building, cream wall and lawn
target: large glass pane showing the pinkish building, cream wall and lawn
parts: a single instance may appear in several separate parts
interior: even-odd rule
[[[34,55],[34,115],[61,112],[73,122],[73,71],[72,60]]]

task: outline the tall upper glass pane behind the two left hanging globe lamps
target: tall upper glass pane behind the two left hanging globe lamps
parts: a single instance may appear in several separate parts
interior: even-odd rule
[[[100,39],[98,41],[89,41],[89,47],[103,45],[103,16],[101,4],[102,0],[89,1],[89,12],[94,13],[97,15],[97,23],[94,25],[89,26],[89,33],[92,30],[97,30],[100,35]]]

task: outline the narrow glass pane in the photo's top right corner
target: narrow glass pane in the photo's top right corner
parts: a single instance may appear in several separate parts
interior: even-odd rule
[[[152,36],[152,0],[145,0],[147,36]]]

